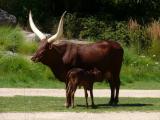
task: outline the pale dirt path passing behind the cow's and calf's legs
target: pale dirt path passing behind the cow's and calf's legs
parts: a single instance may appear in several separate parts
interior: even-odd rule
[[[110,97],[109,89],[94,89],[95,97]],[[55,96],[65,97],[64,89],[17,89],[17,88],[0,88],[0,96]],[[83,97],[83,89],[78,89],[75,96]],[[120,97],[150,97],[160,98],[160,90],[120,90]]]

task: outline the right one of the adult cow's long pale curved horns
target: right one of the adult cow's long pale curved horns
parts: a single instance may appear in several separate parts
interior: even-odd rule
[[[48,39],[49,43],[52,43],[53,41],[57,40],[58,38],[60,38],[62,36],[62,34],[63,34],[63,18],[64,18],[64,15],[66,12],[67,11],[65,11],[61,16],[57,33]]]

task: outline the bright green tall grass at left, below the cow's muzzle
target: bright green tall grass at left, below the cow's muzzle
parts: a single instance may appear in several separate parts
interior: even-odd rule
[[[1,87],[51,87],[54,79],[52,72],[42,64],[13,53],[0,55]]]

